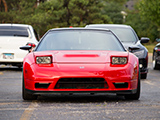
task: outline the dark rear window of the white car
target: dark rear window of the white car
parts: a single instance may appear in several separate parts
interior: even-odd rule
[[[28,28],[17,26],[0,26],[0,36],[29,37]]]

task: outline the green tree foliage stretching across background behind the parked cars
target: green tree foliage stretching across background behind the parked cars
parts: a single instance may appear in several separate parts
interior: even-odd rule
[[[0,5],[1,23],[31,24],[42,36],[57,27],[83,27],[87,24],[123,23],[121,11],[128,0],[6,0],[8,12]],[[137,0],[135,10],[126,11],[125,24],[131,25],[138,36],[160,37],[160,1]],[[158,31],[159,30],[159,31]]]

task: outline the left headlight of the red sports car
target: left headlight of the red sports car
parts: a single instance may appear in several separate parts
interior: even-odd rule
[[[36,63],[37,64],[51,64],[51,56],[45,56],[45,57],[36,57]]]

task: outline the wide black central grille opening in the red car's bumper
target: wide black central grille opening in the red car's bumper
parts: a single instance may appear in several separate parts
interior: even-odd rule
[[[55,89],[104,89],[108,84],[104,78],[61,78]]]

